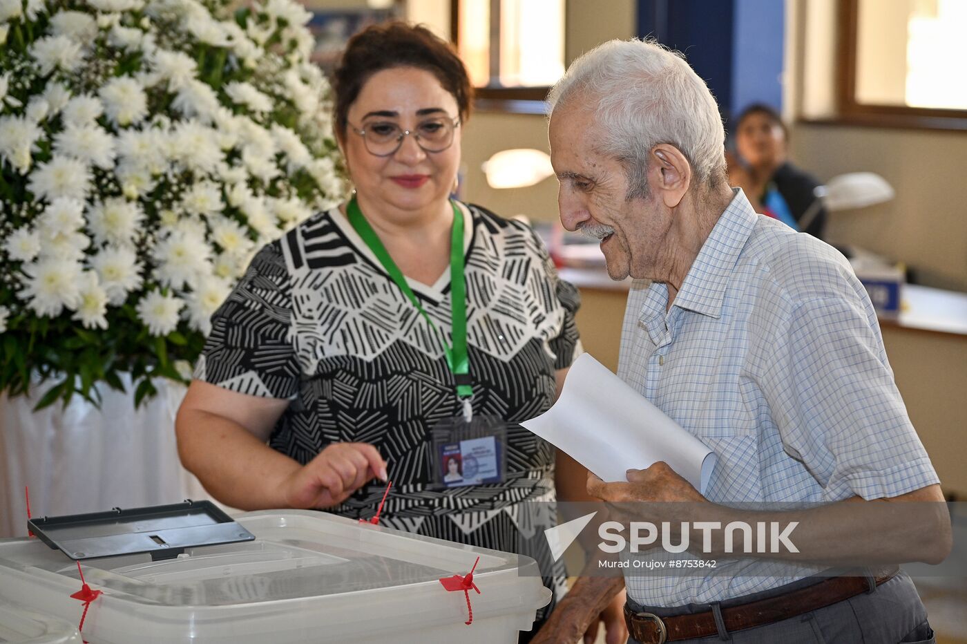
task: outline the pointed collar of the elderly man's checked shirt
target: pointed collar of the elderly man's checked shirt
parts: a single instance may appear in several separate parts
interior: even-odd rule
[[[721,316],[725,287],[759,217],[742,190],[735,188],[732,191],[732,201],[692,262],[673,307],[717,319]]]

